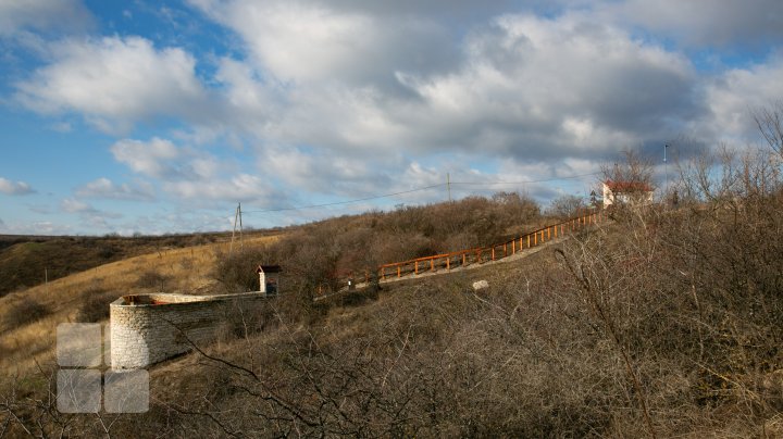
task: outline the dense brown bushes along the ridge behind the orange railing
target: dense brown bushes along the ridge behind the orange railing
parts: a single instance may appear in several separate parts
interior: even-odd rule
[[[219,258],[215,277],[227,291],[258,289],[259,263],[283,266],[284,288],[312,294],[338,289],[350,275],[363,279],[382,263],[483,247],[519,235],[542,221],[535,201],[518,193],[313,223],[281,241]]]

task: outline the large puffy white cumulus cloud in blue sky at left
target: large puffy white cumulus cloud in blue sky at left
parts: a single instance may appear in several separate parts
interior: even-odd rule
[[[153,115],[187,116],[206,104],[196,60],[140,37],[53,43],[52,61],[16,84],[16,100],[41,113],[77,112],[116,131]]]

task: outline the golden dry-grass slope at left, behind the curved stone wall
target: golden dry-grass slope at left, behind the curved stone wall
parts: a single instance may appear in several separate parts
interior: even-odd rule
[[[248,246],[269,243],[276,236],[246,238]],[[58,242],[58,240],[52,240]],[[126,243],[127,246],[127,243]],[[212,292],[217,258],[231,242],[167,249],[127,258],[62,277],[0,298],[0,368],[29,374],[36,361],[52,362],[57,325],[64,322],[104,322],[109,303],[134,292]],[[133,251],[141,252],[145,247]],[[127,249],[130,251],[130,249]]]

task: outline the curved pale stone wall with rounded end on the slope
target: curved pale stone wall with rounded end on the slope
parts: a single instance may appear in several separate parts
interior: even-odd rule
[[[223,296],[125,296],[110,306],[111,365],[141,368],[212,340],[226,316],[249,311],[265,298],[259,293]]]

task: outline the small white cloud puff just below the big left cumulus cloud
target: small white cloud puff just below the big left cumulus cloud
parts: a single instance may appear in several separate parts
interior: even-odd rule
[[[123,139],[112,145],[111,152],[116,161],[125,163],[134,172],[151,177],[172,176],[175,167],[169,162],[181,155],[174,143],[158,137],[148,142]]]

